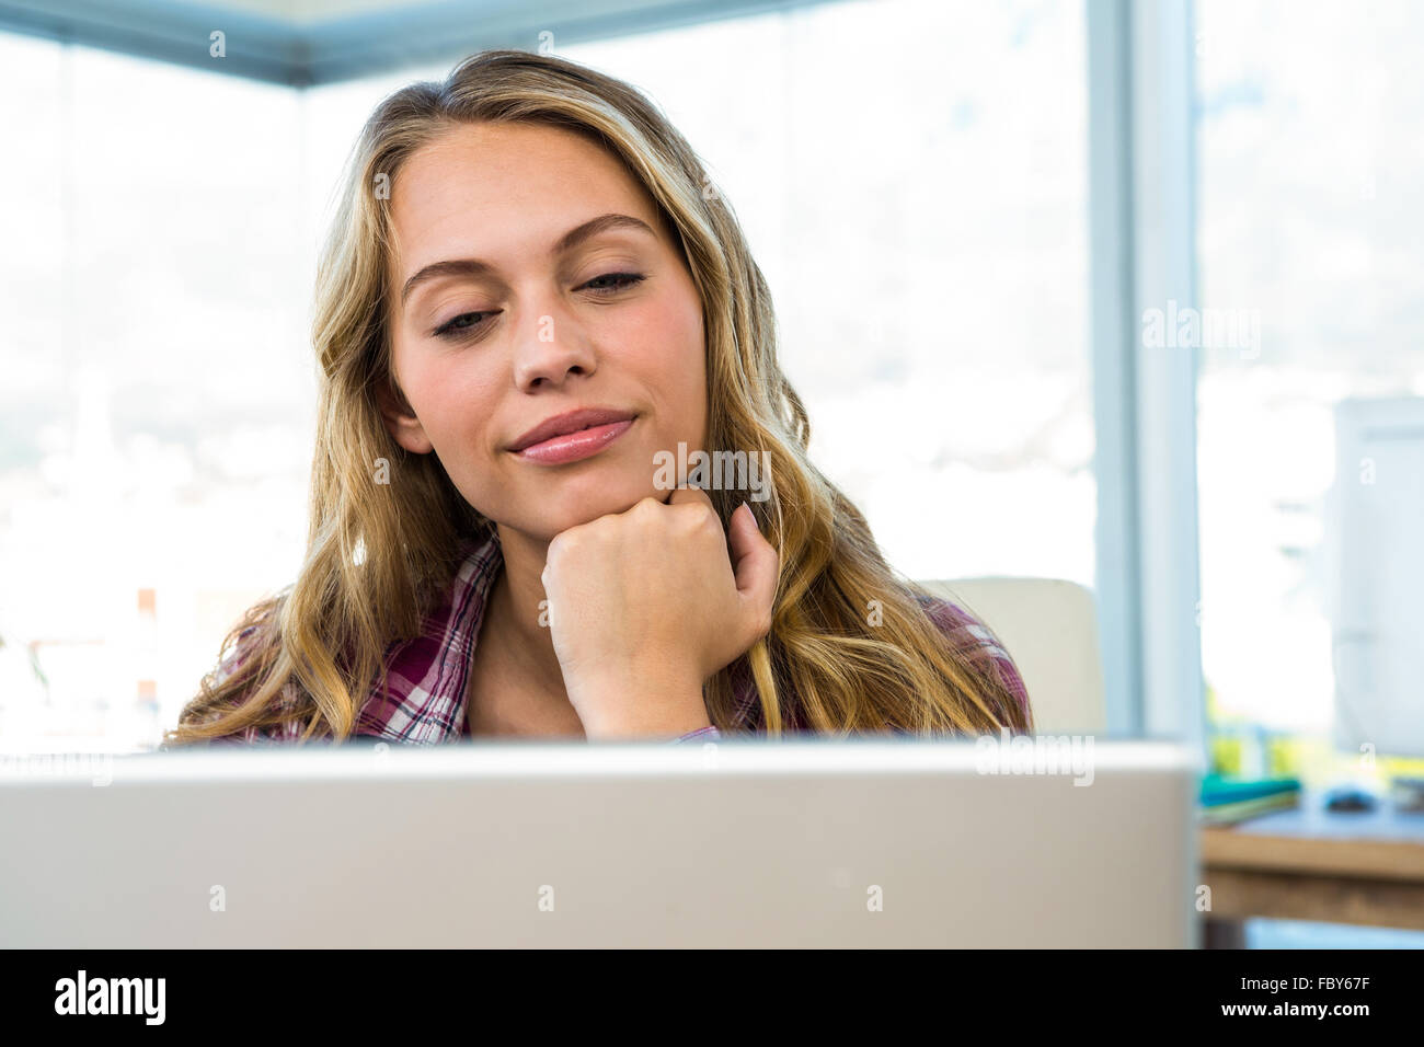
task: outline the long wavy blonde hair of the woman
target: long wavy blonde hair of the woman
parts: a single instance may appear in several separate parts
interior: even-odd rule
[[[201,681],[162,748],[296,721],[299,742],[347,739],[384,657],[417,635],[453,583],[468,541],[493,521],[459,493],[436,454],[412,454],[377,403],[402,406],[387,335],[389,187],[413,152],[457,124],[530,121],[590,135],[621,158],[678,234],[702,299],[708,450],[768,452],[770,497],[749,503],[780,554],[772,630],[703,685],[708,714],[735,732],[738,674],[750,674],[762,729],[823,734],[1031,731],[985,644],[946,641],[921,600],[931,594],[881,557],[862,513],[810,463],[810,423],[776,358],[766,279],[732,208],[696,154],[642,94],[553,56],[483,51],[443,83],[384,98],[347,160],[322,249],[312,339],[320,363],[308,551],[296,581],[252,607],[224,641],[244,650]],[[377,187],[386,185],[384,194]],[[370,469],[390,463],[389,493]],[[739,501],[709,490],[723,524]],[[870,608],[879,607],[879,624]],[[745,679],[745,675],[740,677]],[[790,708],[795,702],[796,708]],[[746,728],[740,728],[746,729]]]

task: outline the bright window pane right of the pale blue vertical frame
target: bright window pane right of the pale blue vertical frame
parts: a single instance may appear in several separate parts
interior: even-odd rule
[[[1200,298],[1260,332],[1203,343],[1203,671],[1223,718],[1324,734],[1334,407],[1424,395],[1424,9],[1198,0],[1198,34]]]

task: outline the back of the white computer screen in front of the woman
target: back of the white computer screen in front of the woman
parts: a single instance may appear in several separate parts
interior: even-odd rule
[[[1085,751],[1037,766],[909,739],[3,756],[0,944],[1198,944],[1199,766],[1158,742]]]

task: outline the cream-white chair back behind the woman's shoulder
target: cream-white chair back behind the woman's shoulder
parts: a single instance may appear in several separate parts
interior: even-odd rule
[[[1108,709],[1092,593],[1057,578],[921,581],[983,621],[1018,665],[1037,734],[1102,734]]]

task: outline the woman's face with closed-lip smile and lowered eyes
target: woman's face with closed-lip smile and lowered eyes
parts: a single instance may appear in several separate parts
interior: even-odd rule
[[[637,221],[578,235],[608,215]],[[540,540],[666,497],[654,454],[706,436],[702,303],[621,164],[558,128],[460,125],[410,157],[390,218],[392,349],[413,413],[382,403],[400,446],[434,450],[474,509]],[[632,423],[574,452],[515,450],[585,407]]]

